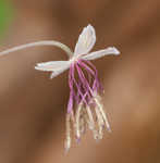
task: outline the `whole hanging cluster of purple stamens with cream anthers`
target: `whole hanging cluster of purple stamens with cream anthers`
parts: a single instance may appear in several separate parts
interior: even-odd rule
[[[66,113],[65,150],[71,147],[72,135],[77,142],[87,129],[95,139],[102,139],[104,128],[110,125],[103,111],[100,93],[103,88],[98,72],[89,61],[77,60],[69,73],[70,99]]]

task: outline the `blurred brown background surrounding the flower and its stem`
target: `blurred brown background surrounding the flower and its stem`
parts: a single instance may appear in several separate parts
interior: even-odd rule
[[[112,127],[96,142],[90,131],[64,154],[67,73],[50,80],[38,62],[66,60],[37,47],[0,58],[1,163],[160,162],[159,0],[0,0],[0,51],[54,39],[74,48],[83,27],[96,28],[94,50],[120,57],[94,61]]]

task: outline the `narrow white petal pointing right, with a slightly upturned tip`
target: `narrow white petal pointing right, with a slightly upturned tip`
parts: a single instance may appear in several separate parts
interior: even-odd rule
[[[84,60],[96,60],[96,59],[99,59],[99,58],[102,58],[102,57],[109,55],[109,54],[119,55],[120,51],[114,47],[110,47],[110,48],[107,48],[103,50],[91,52],[87,55],[83,55],[82,59],[84,59]]]

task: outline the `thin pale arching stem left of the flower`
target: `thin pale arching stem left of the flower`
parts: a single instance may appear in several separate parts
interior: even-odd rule
[[[4,50],[4,51],[0,52],[0,57],[9,54],[14,51],[19,51],[19,50],[23,50],[23,49],[32,48],[32,47],[38,47],[38,46],[56,46],[56,47],[59,47],[62,50],[64,50],[67,53],[69,58],[71,58],[73,55],[73,52],[71,51],[71,49],[67,46],[65,46],[59,41],[54,41],[54,40],[45,40],[45,41],[26,43],[26,45],[22,45],[22,46],[17,46],[17,47]]]

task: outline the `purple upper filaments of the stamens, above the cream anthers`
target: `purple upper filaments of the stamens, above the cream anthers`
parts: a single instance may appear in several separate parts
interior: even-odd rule
[[[89,61],[85,60],[78,60],[74,64],[71,64],[69,86],[70,99],[67,113],[71,113],[73,108],[81,102],[89,105],[94,93],[98,93],[102,89],[96,67]]]

